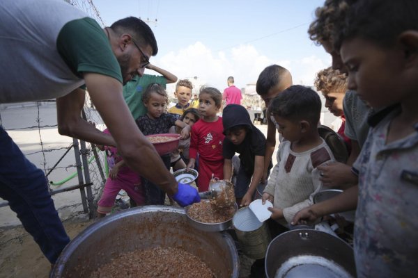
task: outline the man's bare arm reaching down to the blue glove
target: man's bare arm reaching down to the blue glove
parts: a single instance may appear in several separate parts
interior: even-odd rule
[[[117,142],[127,165],[152,181],[168,195],[177,193],[177,182],[162,163],[155,148],[139,131],[122,96],[122,84],[101,74],[86,73],[84,80],[91,100]]]

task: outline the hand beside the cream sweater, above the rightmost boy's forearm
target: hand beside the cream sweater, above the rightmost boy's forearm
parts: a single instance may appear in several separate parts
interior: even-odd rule
[[[344,163],[320,165],[318,171],[324,186],[344,189],[357,184],[357,177],[351,172],[351,167]]]

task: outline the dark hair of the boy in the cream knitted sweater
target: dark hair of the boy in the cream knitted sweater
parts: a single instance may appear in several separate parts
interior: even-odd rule
[[[272,115],[284,117],[286,120],[305,120],[316,126],[321,107],[317,92],[302,85],[293,85],[274,97],[268,109]]]

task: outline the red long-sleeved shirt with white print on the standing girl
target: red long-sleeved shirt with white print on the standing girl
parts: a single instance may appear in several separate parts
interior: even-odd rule
[[[216,122],[205,122],[199,120],[192,126],[192,135],[190,136],[189,157],[199,157],[207,161],[223,161],[222,142],[224,142],[224,126],[222,117]]]

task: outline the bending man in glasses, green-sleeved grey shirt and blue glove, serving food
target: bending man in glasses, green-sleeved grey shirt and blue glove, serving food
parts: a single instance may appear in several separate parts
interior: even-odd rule
[[[122,85],[144,74],[158,52],[153,31],[127,17],[101,28],[62,0],[14,0],[0,5],[0,104],[56,98],[58,131],[97,145],[118,146],[124,161],[181,206],[199,202],[177,183],[137,128]],[[111,135],[81,117],[86,85]],[[55,263],[69,242],[45,174],[24,157],[0,126],[0,197],[9,202],[43,254]]]

